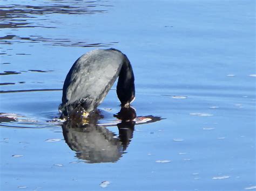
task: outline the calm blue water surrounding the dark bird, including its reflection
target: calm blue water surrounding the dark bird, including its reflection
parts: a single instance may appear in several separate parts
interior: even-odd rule
[[[254,1],[0,5],[1,190],[256,189]],[[115,85],[104,126],[54,120],[72,63],[110,47],[156,120],[107,126]]]

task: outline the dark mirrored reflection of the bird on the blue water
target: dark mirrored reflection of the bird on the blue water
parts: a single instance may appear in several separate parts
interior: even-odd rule
[[[120,119],[116,124],[119,136],[104,125],[97,125],[102,116],[98,112],[89,118],[88,124],[70,118],[62,125],[63,136],[71,150],[76,151],[79,159],[89,163],[116,162],[129,146],[136,122],[133,108],[122,108],[114,117]],[[160,117],[158,117],[160,120]],[[154,121],[158,121],[154,120]]]

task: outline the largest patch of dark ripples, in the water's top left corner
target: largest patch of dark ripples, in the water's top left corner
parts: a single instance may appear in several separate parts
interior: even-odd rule
[[[38,16],[51,15],[51,14],[65,14],[65,15],[81,15],[81,14],[96,14],[104,13],[107,10],[96,9],[102,7],[99,4],[92,4],[81,2],[77,5],[68,4],[53,4],[53,5],[19,5],[10,4],[0,6],[1,10],[1,25],[0,28],[29,28],[29,27],[44,27],[54,28],[52,26],[45,26],[38,20],[49,19],[37,19]],[[36,22],[37,21],[37,22]]]

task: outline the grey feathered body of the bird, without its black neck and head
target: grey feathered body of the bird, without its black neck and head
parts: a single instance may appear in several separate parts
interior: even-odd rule
[[[95,109],[116,81],[124,59],[115,49],[96,49],[82,55],[66,76],[61,108],[83,104],[87,112]]]

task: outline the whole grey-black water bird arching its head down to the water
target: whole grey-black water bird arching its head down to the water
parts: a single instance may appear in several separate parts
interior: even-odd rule
[[[117,95],[122,105],[134,99],[134,76],[126,55],[116,49],[96,49],[71,67],[63,86],[60,111],[67,115],[79,105],[91,112],[102,103],[119,75]]]

